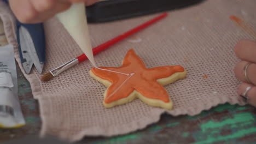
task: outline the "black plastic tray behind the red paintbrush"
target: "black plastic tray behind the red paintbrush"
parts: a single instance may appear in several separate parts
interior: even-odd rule
[[[109,22],[189,7],[204,0],[106,0],[86,7],[88,22]]]

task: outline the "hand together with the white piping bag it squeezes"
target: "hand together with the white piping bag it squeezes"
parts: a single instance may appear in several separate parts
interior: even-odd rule
[[[39,23],[56,16],[92,65],[96,66],[84,5],[91,5],[95,2],[96,0],[22,0],[19,2],[10,0],[9,4],[17,19],[23,23]]]

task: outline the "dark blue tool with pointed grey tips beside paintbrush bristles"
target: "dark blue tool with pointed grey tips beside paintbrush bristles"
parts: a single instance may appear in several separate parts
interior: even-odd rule
[[[8,3],[8,0],[4,0]],[[26,74],[30,74],[34,65],[42,74],[45,63],[45,38],[43,23],[24,24],[17,20],[17,41],[20,60]]]

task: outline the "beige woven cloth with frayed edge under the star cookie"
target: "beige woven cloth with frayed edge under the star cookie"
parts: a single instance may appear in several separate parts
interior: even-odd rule
[[[89,76],[89,61],[49,82],[41,82],[35,70],[30,75],[24,73],[34,98],[39,101],[41,134],[71,141],[86,135],[113,136],[158,122],[162,113],[193,116],[218,104],[243,105],[236,94],[240,82],[233,73],[238,61],[233,48],[238,40],[255,39],[256,35],[236,25],[229,16],[240,17],[253,31],[256,29],[255,5],[255,0],[208,0],[194,7],[170,11],[166,19],[95,56],[98,66],[118,67],[126,52],[133,48],[148,68],[182,65],[188,71],[187,78],[165,86],[174,103],[171,111],[148,106],[138,99],[104,109],[106,88]],[[8,41],[16,44],[13,15],[3,3],[0,3],[0,16]],[[154,16],[89,25],[92,45],[100,45]],[[44,73],[82,54],[56,19],[45,22],[45,36]],[[15,54],[20,65],[17,47]]]

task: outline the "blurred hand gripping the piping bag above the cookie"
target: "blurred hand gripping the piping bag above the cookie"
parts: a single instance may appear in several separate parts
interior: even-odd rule
[[[94,4],[97,0],[9,0],[10,8],[22,23],[44,22],[67,10],[73,3]]]

